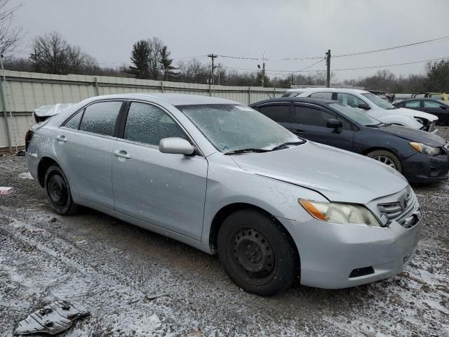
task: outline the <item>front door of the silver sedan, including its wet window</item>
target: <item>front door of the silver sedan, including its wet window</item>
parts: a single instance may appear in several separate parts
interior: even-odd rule
[[[158,105],[132,102],[112,156],[114,209],[200,240],[208,161],[159,152],[162,138],[189,136]]]

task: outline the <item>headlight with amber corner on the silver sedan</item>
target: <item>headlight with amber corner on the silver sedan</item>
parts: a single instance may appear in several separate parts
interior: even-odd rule
[[[358,225],[380,226],[379,221],[366,207],[340,202],[321,202],[298,199],[304,209],[318,220],[329,223],[354,223]]]

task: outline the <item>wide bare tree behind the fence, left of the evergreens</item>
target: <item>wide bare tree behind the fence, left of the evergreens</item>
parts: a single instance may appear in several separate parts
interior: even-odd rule
[[[95,58],[81,51],[79,46],[70,45],[58,32],[35,37],[33,48],[30,60],[37,72],[68,74],[98,67]]]

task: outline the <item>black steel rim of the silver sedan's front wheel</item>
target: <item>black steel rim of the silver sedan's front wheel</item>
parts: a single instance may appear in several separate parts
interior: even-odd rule
[[[236,273],[250,284],[266,284],[277,267],[272,244],[253,228],[238,230],[233,235],[231,255]]]

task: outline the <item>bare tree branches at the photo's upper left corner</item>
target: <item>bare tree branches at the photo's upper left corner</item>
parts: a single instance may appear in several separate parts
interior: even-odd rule
[[[23,38],[22,27],[11,27],[13,14],[20,6],[8,7],[9,0],[0,0],[0,53],[15,51]]]

